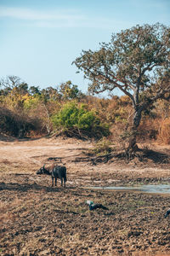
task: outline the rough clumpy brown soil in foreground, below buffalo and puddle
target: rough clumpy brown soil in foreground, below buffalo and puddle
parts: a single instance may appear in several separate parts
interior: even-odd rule
[[[7,174],[4,182],[1,175],[2,255],[170,253],[169,196],[49,183],[46,176]],[[109,210],[89,211],[87,200]]]

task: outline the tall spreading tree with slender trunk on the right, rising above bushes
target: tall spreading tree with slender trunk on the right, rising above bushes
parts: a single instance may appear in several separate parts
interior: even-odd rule
[[[113,34],[97,51],[82,50],[73,61],[91,81],[93,93],[115,88],[133,102],[133,123],[128,150],[136,148],[141,114],[158,99],[170,98],[170,27],[133,26]]]

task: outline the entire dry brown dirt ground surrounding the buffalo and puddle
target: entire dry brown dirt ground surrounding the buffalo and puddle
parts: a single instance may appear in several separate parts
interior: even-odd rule
[[[92,143],[73,139],[14,140],[0,137],[0,255],[170,255],[170,196],[93,186],[166,183],[170,147],[130,162],[105,163],[83,154]],[[161,157],[160,157],[161,155]],[[159,157],[158,157],[159,156]],[[37,175],[59,159],[66,188]],[[108,210],[90,211],[85,201]]]

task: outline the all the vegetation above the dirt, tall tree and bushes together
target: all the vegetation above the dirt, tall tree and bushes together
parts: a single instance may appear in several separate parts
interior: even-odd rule
[[[170,143],[169,27],[133,26],[113,34],[99,50],[82,50],[72,64],[91,82],[86,95],[71,81],[40,90],[16,76],[1,79],[1,132],[16,137],[57,131],[80,138],[119,137],[128,150],[137,148],[142,138]],[[124,96],[114,96],[115,88]],[[111,98],[97,97],[104,91]]]

